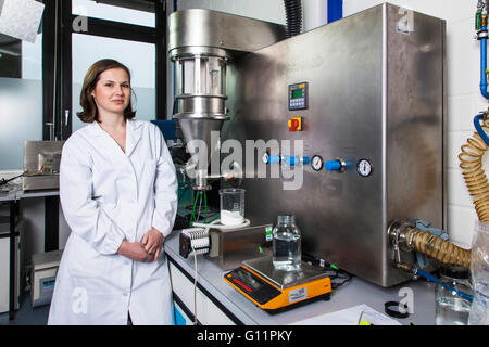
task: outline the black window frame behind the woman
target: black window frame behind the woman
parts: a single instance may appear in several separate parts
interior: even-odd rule
[[[92,0],[95,1],[95,0]],[[100,3],[153,12],[155,27],[87,17],[88,30],[75,31],[72,0],[43,0],[42,16],[42,140],[66,140],[73,131],[72,35],[86,34],[155,44],[155,115],[166,119],[166,1],[98,0]],[[65,112],[70,116],[65,119]],[[50,123],[53,123],[51,139]],[[59,248],[59,201],[46,198],[45,252]]]

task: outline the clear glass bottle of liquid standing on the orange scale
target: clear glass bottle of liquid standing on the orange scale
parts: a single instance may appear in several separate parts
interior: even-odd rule
[[[280,215],[273,230],[273,262],[277,270],[293,271],[301,267],[301,231],[296,216]]]

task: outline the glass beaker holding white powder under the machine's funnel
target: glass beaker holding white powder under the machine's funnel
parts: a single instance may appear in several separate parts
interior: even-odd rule
[[[227,188],[220,190],[221,223],[240,226],[244,221],[244,190]]]

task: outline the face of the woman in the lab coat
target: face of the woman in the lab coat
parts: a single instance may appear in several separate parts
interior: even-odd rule
[[[123,68],[111,68],[99,76],[96,88],[91,91],[95,103],[102,113],[124,114],[130,102],[129,76]]]

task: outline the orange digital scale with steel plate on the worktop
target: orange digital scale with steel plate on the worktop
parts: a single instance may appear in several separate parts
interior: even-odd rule
[[[226,273],[224,280],[271,314],[329,300],[331,294],[331,280],[325,271],[304,261],[300,270],[277,270],[269,256],[243,261]]]

